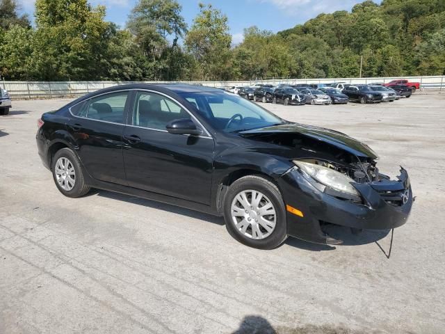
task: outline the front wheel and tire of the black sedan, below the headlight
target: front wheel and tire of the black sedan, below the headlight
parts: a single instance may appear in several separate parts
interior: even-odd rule
[[[247,246],[272,249],[287,238],[286,210],[277,186],[257,175],[236,180],[224,203],[227,231]]]

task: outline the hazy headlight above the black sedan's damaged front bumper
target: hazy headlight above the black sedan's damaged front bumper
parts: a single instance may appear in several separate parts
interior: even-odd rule
[[[294,160],[293,163],[300,167],[304,173],[325,186],[339,191],[340,193],[347,193],[350,196],[360,196],[357,189],[351,185],[351,182],[355,181],[350,177],[337,172],[337,170],[297,160]],[[325,189],[319,190],[325,191]]]

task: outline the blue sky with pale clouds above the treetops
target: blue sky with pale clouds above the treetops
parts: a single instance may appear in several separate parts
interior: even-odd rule
[[[275,33],[305,23],[307,19],[320,13],[350,10],[362,1],[364,0],[178,0],[188,26],[191,26],[193,18],[199,13],[200,2],[211,3],[214,8],[222,10],[229,17],[233,44],[243,40],[243,29],[249,26],[258,26],[261,30]],[[22,3],[24,12],[33,15],[35,0],[18,2]],[[121,27],[125,26],[136,2],[137,0],[90,0],[93,5],[106,6],[106,19]]]

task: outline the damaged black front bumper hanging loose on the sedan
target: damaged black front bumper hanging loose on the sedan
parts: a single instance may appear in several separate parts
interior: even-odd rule
[[[413,196],[410,177],[401,168],[398,180],[354,183],[362,202],[343,200],[316,189],[297,168],[278,179],[286,205],[298,209],[302,216],[286,212],[288,234],[318,244],[339,244],[323,232],[324,223],[354,229],[387,230],[406,223]]]

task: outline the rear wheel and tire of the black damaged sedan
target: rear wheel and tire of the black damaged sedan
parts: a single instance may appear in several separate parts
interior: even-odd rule
[[[79,159],[69,148],[58,150],[52,159],[51,170],[57,189],[63,195],[78,198],[90,191],[86,184]]]

